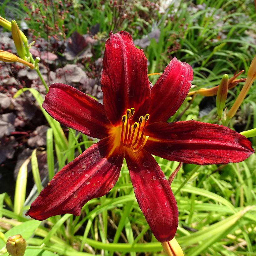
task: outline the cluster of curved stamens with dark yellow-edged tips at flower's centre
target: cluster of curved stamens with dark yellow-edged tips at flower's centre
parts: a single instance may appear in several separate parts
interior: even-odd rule
[[[126,115],[122,116],[122,130],[120,145],[131,148],[134,153],[140,152],[145,146],[149,136],[145,136],[144,131],[146,122],[149,119],[149,114],[144,117],[140,116],[139,122],[133,123],[134,108],[127,109]]]

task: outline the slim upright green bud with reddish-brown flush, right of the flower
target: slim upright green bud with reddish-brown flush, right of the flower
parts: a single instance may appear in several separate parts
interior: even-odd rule
[[[229,76],[225,74],[220,81],[219,89],[217,91],[217,97],[216,97],[216,107],[217,107],[217,112],[220,119],[222,118],[222,115],[223,115],[223,108],[226,103],[228,88],[229,88]]]

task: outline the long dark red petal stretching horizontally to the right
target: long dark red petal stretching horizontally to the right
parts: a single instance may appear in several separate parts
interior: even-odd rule
[[[241,162],[254,153],[251,142],[225,126],[198,121],[157,122],[146,127],[144,147],[153,155],[197,165]]]

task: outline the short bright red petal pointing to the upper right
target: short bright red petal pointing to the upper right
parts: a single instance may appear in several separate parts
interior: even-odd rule
[[[167,121],[173,116],[191,87],[193,69],[173,58],[151,91],[149,122]]]

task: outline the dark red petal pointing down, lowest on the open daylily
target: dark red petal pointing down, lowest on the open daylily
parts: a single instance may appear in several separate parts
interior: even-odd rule
[[[142,150],[126,153],[134,193],[142,213],[160,242],[173,239],[178,227],[178,208],[170,184],[152,155]]]

